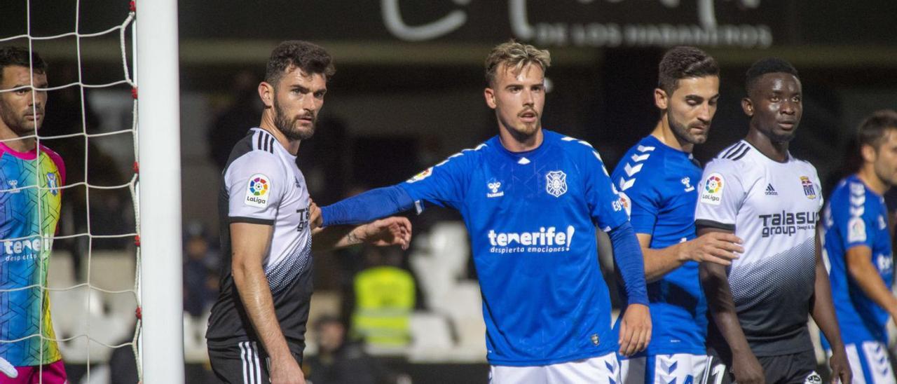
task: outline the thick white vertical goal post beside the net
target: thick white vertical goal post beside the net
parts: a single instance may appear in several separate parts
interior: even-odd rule
[[[145,384],[184,382],[177,0],[137,0]]]

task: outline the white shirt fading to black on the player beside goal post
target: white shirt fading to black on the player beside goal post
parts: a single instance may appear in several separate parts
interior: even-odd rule
[[[311,298],[309,191],[296,165],[274,136],[252,128],[234,146],[222,172],[219,193],[222,240],[221,292],[206,334],[210,348],[257,341],[231,275],[231,223],[272,225],[262,259],[274,299],[274,313],[292,353],[305,346]]]

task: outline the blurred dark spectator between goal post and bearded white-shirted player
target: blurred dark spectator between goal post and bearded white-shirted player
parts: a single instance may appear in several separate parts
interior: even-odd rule
[[[218,250],[210,246],[202,223],[187,224],[184,240],[184,310],[201,317],[218,292]]]

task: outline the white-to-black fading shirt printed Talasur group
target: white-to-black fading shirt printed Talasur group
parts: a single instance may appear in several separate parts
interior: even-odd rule
[[[727,267],[727,275],[753,353],[812,349],[806,322],[823,206],[816,169],[790,153],[788,161],[773,161],[742,140],[707,164],[698,188],[697,228],[734,231],[744,240],[745,253]],[[709,323],[708,344],[726,348],[715,322]]]

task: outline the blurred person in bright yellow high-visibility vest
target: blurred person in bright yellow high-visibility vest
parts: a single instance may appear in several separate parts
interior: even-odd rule
[[[355,275],[353,336],[374,347],[408,345],[415,284],[411,273],[399,267],[401,251],[367,247],[363,256],[369,267]]]

